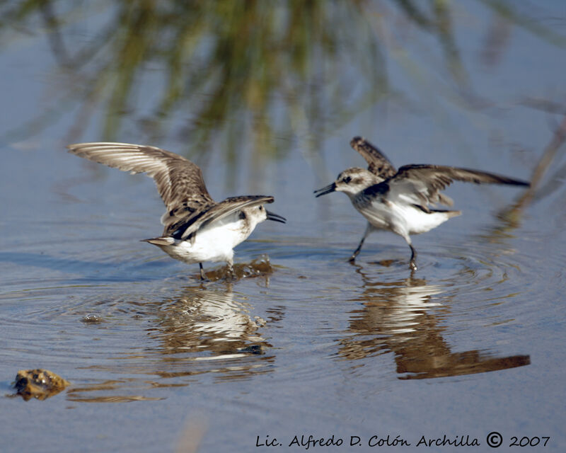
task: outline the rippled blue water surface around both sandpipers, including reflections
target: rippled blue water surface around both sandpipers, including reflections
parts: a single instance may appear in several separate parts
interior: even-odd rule
[[[493,431],[503,449],[564,448],[560,148],[519,205],[520,188],[452,186],[463,215],[415,237],[416,272],[385,233],[348,263],[364,219],[312,193],[364,164],[354,135],[397,166],[531,178],[564,111],[562,4],[221,3],[3,7],[19,22],[1,23],[2,451],[304,449],[289,447],[301,435],[359,436],[360,452],[374,435],[407,451],[469,435],[484,451]],[[205,263],[200,282],[140,242],[161,232],[149,178],[64,150],[98,140],[179,152],[216,200],[275,195],[288,223],[236,248],[243,277]],[[37,367],[71,386],[12,397]]]

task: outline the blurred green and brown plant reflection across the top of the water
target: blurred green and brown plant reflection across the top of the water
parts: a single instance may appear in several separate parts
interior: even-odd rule
[[[510,2],[481,3],[499,25],[512,23],[565,44]],[[20,33],[45,31],[64,79],[55,106],[35,111],[12,132],[27,136],[30,125],[41,130],[71,111],[69,141],[99,120],[96,139],[132,136],[159,144],[173,135],[190,154],[205,152],[219,138],[229,163],[243,143],[252,144],[252,158],[279,156],[296,139],[313,150],[323,134],[379,99],[407,101],[388,74],[395,59],[416,84],[429,71],[403,38],[411,27],[439,44],[454,82],[444,96],[472,93],[455,39],[457,6],[441,0],[4,4],[5,45]]]

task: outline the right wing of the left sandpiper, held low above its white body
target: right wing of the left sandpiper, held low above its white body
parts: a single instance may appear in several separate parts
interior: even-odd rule
[[[180,219],[175,224],[166,229],[168,236],[173,236],[175,239],[187,239],[192,237],[194,239],[197,231],[207,226],[210,222],[216,222],[224,217],[237,212],[244,207],[253,207],[264,205],[265,203],[272,203],[273,197],[267,195],[242,195],[241,197],[226,198],[206,211],[196,212],[185,219]]]

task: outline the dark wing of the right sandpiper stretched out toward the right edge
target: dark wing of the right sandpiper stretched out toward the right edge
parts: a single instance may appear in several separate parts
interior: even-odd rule
[[[405,165],[399,168],[393,178],[382,184],[389,186],[391,197],[399,197],[417,205],[426,206],[437,202],[451,205],[452,200],[440,193],[440,190],[444,190],[455,180],[475,184],[530,185],[526,181],[495,173],[439,165]]]

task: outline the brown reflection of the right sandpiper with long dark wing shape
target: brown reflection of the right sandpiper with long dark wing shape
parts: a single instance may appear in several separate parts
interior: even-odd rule
[[[413,273],[398,282],[375,282],[364,274],[362,308],[352,311],[349,331],[353,336],[340,340],[338,355],[347,360],[393,352],[399,379],[428,379],[483,373],[529,365],[529,355],[496,357],[482,350],[452,352],[443,338],[441,322],[432,296],[443,290],[427,285]]]

